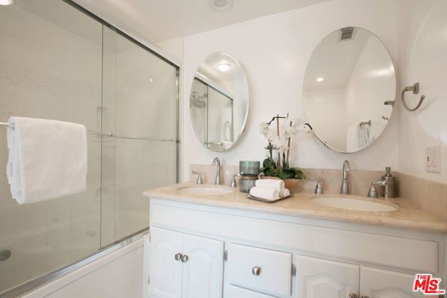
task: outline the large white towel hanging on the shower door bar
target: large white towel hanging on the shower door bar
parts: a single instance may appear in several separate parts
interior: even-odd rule
[[[87,188],[87,131],[81,124],[11,117],[8,182],[19,204],[80,193]]]

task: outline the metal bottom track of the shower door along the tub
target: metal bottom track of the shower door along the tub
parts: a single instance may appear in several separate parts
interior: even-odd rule
[[[117,251],[120,248],[124,248],[124,246],[127,246],[135,241],[142,239],[142,237],[145,234],[147,234],[147,232],[149,232],[149,227],[139,230],[138,232],[135,232],[129,235],[128,237],[125,237],[124,239],[116,241],[113,244],[110,244],[109,246],[105,246],[104,248],[101,248],[99,251],[96,251],[96,253],[89,255],[87,258],[79,260],[78,262],[71,263],[66,267],[62,267],[54,271],[51,271],[50,273],[40,276],[27,283],[24,283],[23,285],[19,285],[17,288],[13,288],[12,290],[4,292],[3,294],[0,294],[0,298],[22,297],[23,295],[26,295],[33,290],[37,290],[38,288],[47,283],[50,283],[52,281],[57,280],[58,278],[66,276],[67,274],[75,270],[78,270],[81,267],[90,264],[91,262],[94,262],[96,260],[99,260],[100,258],[105,257],[105,255],[113,253],[114,251]]]

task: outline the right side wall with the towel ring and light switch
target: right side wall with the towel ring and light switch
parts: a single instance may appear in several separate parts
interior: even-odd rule
[[[420,110],[399,103],[399,167],[402,172],[447,181],[447,1],[398,0],[400,15],[400,90],[415,82],[420,94],[407,92],[410,106],[425,94]],[[441,146],[441,174],[425,172],[425,147]]]

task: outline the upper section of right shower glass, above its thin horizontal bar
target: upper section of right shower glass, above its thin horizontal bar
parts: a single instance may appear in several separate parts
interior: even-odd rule
[[[117,136],[177,137],[176,68],[117,35]]]

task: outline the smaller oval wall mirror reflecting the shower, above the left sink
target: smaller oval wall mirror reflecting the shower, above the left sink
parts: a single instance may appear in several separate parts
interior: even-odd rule
[[[212,151],[233,147],[244,131],[249,87],[239,62],[215,53],[200,64],[189,98],[191,122],[198,140]]]

